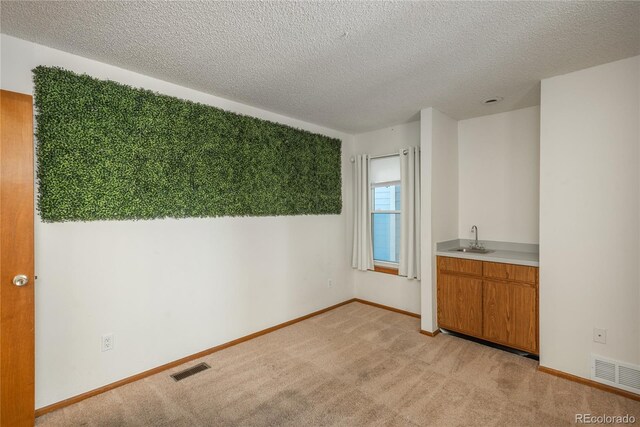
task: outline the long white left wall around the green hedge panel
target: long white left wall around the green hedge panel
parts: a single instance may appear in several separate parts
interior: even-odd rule
[[[32,93],[31,69],[57,65],[349,145],[350,136],[330,129],[1,37],[0,84],[6,90]],[[345,155],[343,171],[349,170]],[[350,175],[343,181],[348,187]],[[351,298],[346,219],[346,213],[60,224],[38,219],[36,406]],[[110,332],[115,349],[101,353],[100,337]]]

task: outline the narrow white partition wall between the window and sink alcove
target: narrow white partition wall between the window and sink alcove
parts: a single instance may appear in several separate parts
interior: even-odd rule
[[[434,108],[420,112],[421,328],[437,326],[436,243],[458,235],[458,123]]]

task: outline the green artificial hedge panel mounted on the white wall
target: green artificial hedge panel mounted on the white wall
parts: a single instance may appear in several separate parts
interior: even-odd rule
[[[33,75],[45,222],[341,212],[338,139],[57,67]]]

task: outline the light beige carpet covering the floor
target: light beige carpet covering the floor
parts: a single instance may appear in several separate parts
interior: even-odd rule
[[[351,303],[37,419],[39,426],[561,426],[640,402]],[[211,369],[174,382],[200,361]]]

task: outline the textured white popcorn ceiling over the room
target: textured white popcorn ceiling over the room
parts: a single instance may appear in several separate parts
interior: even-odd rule
[[[536,105],[541,79],[640,53],[639,2],[3,0],[1,15],[3,33],[348,132]]]

